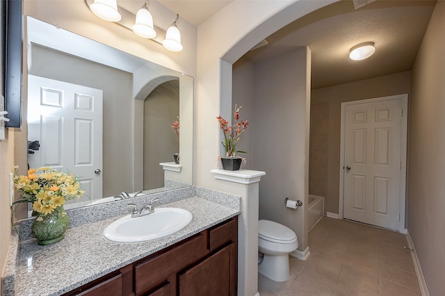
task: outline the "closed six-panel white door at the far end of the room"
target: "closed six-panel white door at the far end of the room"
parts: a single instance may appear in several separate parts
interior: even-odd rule
[[[343,217],[400,230],[402,106],[345,106]]]

